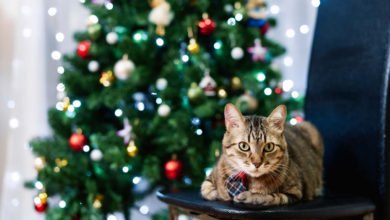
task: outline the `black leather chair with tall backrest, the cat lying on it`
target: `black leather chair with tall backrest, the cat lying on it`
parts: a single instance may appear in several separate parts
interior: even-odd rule
[[[324,197],[259,209],[160,191],[171,219],[390,219],[389,42],[389,0],[321,1],[305,114],[324,137]]]

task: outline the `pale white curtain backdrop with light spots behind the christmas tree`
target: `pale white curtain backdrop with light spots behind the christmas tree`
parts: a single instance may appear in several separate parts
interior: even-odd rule
[[[81,1],[82,2],[82,1]],[[304,95],[319,0],[269,0],[278,26],[269,37],[287,53],[277,63],[284,80]],[[47,136],[47,109],[57,102],[62,54],[74,51],[72,35],[85,29],[89,12],[79,0],[0,0],[0,216],[43,219],[34,210],[33,190],[25,180],[36,176],[28,142]],[[289,81],[290,82],[290,81]],[[162,205],[153,196],[141,202],[150,212]],[[148,215],[133,212],[134,219]],[[121,219],[114,214],[111,219]]]

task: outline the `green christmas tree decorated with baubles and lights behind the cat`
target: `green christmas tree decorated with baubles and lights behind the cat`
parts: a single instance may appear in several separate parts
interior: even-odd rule
[[[199,187],[220,154],[226,103],[259,115],[285,104],[301,120],[263,0],[83,4],[91,15],[64,57],[53,135],[31,141],[38,176],[27,185],[48,219],[129,218],[156,186]]]

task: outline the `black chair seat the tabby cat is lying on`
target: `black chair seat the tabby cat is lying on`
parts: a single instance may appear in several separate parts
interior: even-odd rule
[[[326,195],[312,201],[291,205],[259,207],[258,205],[204,200],[199,190],[160,190],[157,197],[193,214],[221,219],[347,219],[371,216],[374,203],[364,197]],[[368,218],[370,219],[370,218]]]

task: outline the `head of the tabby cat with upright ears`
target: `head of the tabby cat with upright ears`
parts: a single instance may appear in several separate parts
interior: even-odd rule
[[[252,177],[277,173],[287,158],[285,119],[284,105],[262,117],[242,116],[234,105],[227,104],[222,143],[226,161],[235,171],[244,171]]]

